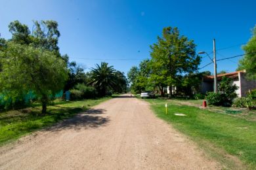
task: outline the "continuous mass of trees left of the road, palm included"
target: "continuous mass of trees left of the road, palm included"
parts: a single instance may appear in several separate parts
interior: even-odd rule
[[[9,31],[11,39],[0,37],[0,95],[11,100],[12,106],[33,93],[41,101],[45,113],[49,100],[61,90],[78,90],[85,98],[127,91],[124,73],[108,63],[102,62],[85,73],[83,67],[69,61],[67,54],[62,56],[57,22],[33,21],[29,29],[28,25],[16,20],[9,24]]]

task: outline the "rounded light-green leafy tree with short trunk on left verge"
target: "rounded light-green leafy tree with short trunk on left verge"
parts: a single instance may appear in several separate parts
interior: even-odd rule
[[[0,63],[0,92],[14,100],[33,92],[41,101],[43,114],[51,95],[62,90],[68,77],[63,59],[32,45],[7,43],[6,50],[0,52]]]

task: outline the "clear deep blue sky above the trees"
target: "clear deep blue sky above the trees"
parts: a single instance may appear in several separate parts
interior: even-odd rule
[[[182,35],[194,39],[198,52],[211,53],[215,38],[217,59],[244,54],[241,44],[249,40],[256,24],[255,7],[253,0],[0,0],[0,33],[9,39],[8,25],[13,20],[30,28],[32,20],[56,20],[61,34],[60,52],[68,54],[71,61],[89,71],[100,63],[97,59],[105,59],[127,73],[142,59],[150,58],[150,44],[167,26],[178,27]],[[222,48],[226,49],[218,50]],[[235,71],[239,59],[219,61],[217,70]],[[209,62],[204,56],[200,67]],[[202,69],[206,70],[213,72],[213,65]]]

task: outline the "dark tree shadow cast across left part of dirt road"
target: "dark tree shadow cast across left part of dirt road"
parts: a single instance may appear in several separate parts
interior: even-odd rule
[[[106,126],[110,119],[104,116],[97,116],[97,114],[104,114],[104,109],[89,109],[81,114],[77,114],[74,118],[64,120],[56,126],[50,127],[47,131],[61,131],[64,129],[87,129]]]

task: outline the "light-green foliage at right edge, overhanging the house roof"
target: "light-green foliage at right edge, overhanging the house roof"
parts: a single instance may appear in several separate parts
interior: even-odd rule
[[[239,61],[238,70],[245,69],[247,78],[256,80],[256,25],[252,34],[251,39],[243,46],[245,56]]]

